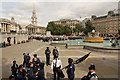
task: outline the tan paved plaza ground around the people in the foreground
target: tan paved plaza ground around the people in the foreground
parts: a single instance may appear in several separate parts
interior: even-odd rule
[[[11,74],[12,61],[15,59],[17,64],[21,64],[23,61],[23,53],[38,54],[41,62],[45,62],[45,49],[49,46],[50,50],[54,46],[49,43],[32,40],[28,43],[15,44],[10,47],[2,49],[2,78],[8,78]],[[59,58],[62,61],[63,67],[66,66],[67,59],[73,58],[74,60],[82,57],[83,55],[90,52],[89,50],[80,48],[68,48],[64,46],[57,46],[59,50]],[[53,56],[51,54],[51,62]],[[96,66],[96,72],[99,78],[117,78],[118,77],[118,54],[117,53],[101,53],[93,52],[87,61],[76,64],[75,66],[75,78],[81,78],[87,75],[88,67],[90,63],[94,63]],[[67,78],[66,70],[63,70],[65,78]],[[53,73],[50,66],[45,65],[45,77],[52,79]]]

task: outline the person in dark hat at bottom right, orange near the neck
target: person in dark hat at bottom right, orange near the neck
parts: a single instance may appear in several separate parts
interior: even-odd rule
[[[84,76],[81,80],[98,80],[97,74],[95,72],[95,65],[90,64],[88,69],[89,69],[89,72],[87,76]]]

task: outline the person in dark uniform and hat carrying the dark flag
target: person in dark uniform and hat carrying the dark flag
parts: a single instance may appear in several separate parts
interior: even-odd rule
[[[66,67],[69,80],[74,80],[74,77],[75,77],[75,74],[74,74],[75,65],[72,62],[73,62],[73,59],[69,58],[68,59],[69,65]]]

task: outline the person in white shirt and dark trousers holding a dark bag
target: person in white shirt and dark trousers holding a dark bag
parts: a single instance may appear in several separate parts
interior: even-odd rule
[[[58,71],[62,69],[62,62],[60,59],[58,59],[58,55],[56,55],[55,59],[53,60],[51,64],[51,69],[54,72],[54,80],[56,80],[56,76],[57,80],[60,80]]]

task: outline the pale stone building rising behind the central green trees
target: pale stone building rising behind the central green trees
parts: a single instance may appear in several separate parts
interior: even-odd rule
[[[55,24],[61,24],[63,26],[69,26],[71,28],[74,28],[76,24],[80,24],[79,20],[71,20],[71,19],[60,19],[58,21],[52,21]]]

